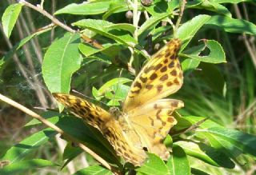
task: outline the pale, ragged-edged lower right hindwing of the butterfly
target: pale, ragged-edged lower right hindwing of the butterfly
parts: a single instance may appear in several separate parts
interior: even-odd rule
[[[172,113],[183,106],[182,101],[162,99],[128,112],[130,124],[137,131],[142,147],[146,147],[150,153],[155,153],[166,160],[170,153],[163,141],[170,128],[177,124]]]

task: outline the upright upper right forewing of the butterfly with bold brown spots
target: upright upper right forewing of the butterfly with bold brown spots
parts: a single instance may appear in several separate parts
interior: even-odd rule
[[[181,41],[173,39],[146,63],[124,101],[124,112],[167,97],[181,88],[183,75],[178,61],[180,46]]]

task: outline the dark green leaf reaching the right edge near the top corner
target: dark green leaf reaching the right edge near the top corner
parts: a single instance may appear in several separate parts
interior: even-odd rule
[[[256,25],[254,23],[220,15],[212,16],[205,26],[210,29],[215,28],[230,33],[256,35]]]

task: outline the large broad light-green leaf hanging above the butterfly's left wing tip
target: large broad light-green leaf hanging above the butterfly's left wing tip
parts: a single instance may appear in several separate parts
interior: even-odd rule
[[[42,77],[51,93],[70,92],[71,76],[80,68],[79,34],[65,34],[54,41],[46,51],[42,64]]]

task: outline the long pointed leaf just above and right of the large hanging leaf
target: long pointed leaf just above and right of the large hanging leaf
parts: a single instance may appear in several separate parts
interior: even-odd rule
[[[103,20],[82,19],[78,22],[72,23],[72,25],[79,26],[83,29],[92,30],[97,34],[101,34],[106,38],[111,38],[116,42],[125,44],[126,46],[134,47],[137,44],[137,41],[132,36],[130,36],[130,33],[128,32],[131,30],[130,25],[127,30],[123,30],[127,24],[115,25],[112,22]]]

